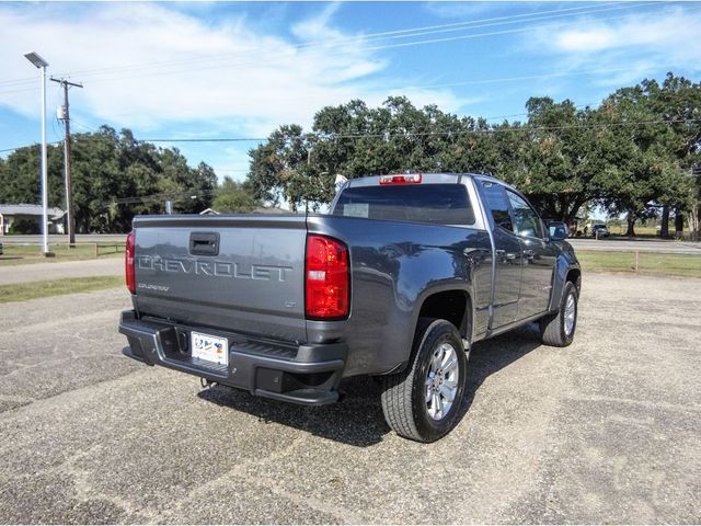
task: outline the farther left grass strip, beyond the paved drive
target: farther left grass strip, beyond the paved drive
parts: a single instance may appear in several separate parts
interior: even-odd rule
[[[124,256],[124,243],[97,243],[95,255],[94,243],[76,244],[49,244],[54,258],[45,258],[42,248],[37,245],[3,243],[3,255],[0,255],[0,265],[23,265],[26,263],[51,263],[57,261],[94,260],[95,258]]]

